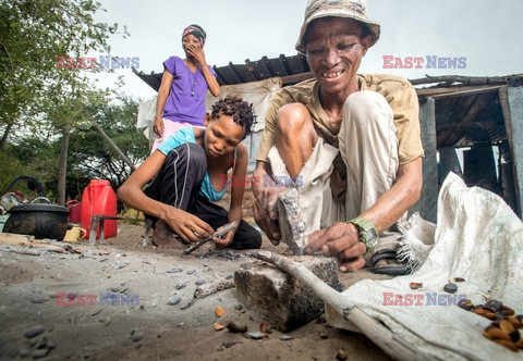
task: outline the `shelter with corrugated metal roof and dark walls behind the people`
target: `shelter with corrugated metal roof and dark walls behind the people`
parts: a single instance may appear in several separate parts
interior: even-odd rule
[[[264,128],[265,109],[279,88],[313,77],[305,57],[296,54],[245,64],[214,66],[222,95],[238,95],[255,104],[258,124],[245,144],[250,167]],[[135,71],[155,90],[161,73]],[[496,77],[427,76],[410,80],[419,99],[422,140],[425,149],[422,198],[414,207],[436,222],[439,186],[449,172],[467,186],[489,189],[522,216],[523,210],[523,74]],[[207,104],[210,105],[211,98]],[[148,108],[147,108],[148,107]],[[156,109],[156,99],[138,112],[138,125],[146,126],[144,109]],[[142,121],[139,121],[142,113]]]

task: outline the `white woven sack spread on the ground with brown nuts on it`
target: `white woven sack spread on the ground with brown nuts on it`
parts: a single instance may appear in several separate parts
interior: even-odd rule
[[[414,348],[418,359],[523,359],[523,351],[512,352],[483,336],[490,320],[455,304],[460,298],[471,299],[474,304],[490,298],[523,313],[521,220],[495,194],[467,188],[450,173],[438,199],[436,232],[429,228],[417,219],[408,232],[411,238],[434,234],[433,239],[418,239],[419,244],[434,246],[429,246],[417,272],[387,281],[361,281],[342,296]],[[454,295],[446,294],[442,287],[453,277],[465,282],[457,283]],[[412,282],[423,283],[423,288],[411,289]],[[399,304],[409,300],[411,306]],[[358,331],[332,309],[327,307],[326,313],[335,326]]]

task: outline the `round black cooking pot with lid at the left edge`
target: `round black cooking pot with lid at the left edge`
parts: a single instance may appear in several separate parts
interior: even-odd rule
[[[4,233],[62,240],[68,232],[69,210],[63,206],[26,203],[12,207],[9,213]]]

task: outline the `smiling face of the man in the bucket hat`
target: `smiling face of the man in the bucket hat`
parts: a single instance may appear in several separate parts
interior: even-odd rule
[[[339,94],[357,86],[355,75],[369,43],[368,37],[361,38],[361,25],[350,18],[325,17],[309,25],[305,52],[321,91]]]

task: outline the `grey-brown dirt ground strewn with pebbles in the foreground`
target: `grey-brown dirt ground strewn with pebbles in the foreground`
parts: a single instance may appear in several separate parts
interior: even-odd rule
[[[0,245],[1,359],[336,360],[341,348],[350,360],[388,359],[365,336],[332,328],[323,316],[288,333],[292,339],[287,340],[277,331],[260,340],[215,331],[215,323],[229,321],[259,331],[264,320],[239,303],[234,288],[193,298],[202,287],[196,284],[227,283],[252,260],[210,247],[190,256],[144,248],[143,235],[139,225],[120,224],[118,236],[105,245],[72,244],[80,253],[29,256]],[[281,247],[264,240],[265,249]],[[367,272],[340,276],[345,286],[373,277]],[[105,304],[110,302],[100,294],[107,292],[131,302]],[[77,303],[82,295],[97,299],[60,306],[68,300],[63,294]],[[221,318],[218,306],[226,310]]]

